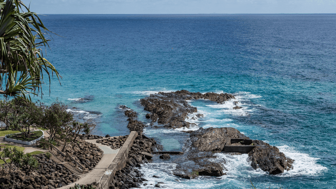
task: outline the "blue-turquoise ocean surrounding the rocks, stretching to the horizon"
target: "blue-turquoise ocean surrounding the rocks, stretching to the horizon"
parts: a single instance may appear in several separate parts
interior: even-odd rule
[[[269,176],[254,171],[245,155],[218,154],[228,162],[227,176],[180,182],[169,174],[173,164],[156,160],[142,167],[149,184],[156,174],[173,188],[250,188],[250,181],[257,188],[335,187],[336,14],[42,19],[60,35],[51,35],[46,58],[63,76],[62,86],[52,81],[50,96],[44,86],[42,101],[58,98],[79,108],[77,116],[97,123],[96,134],[129,133],[119,105],[135,109],[147,122],[139,99],[150,93],[229,92],[243,109],[233,110],[232,101],[191,101],[206,116],[190,121],[198,127],[235,127],[295,160],[292,171]],[[76,101],[87,96],[86,102]],[[145,134],[169,150],[183,148],[187,138],[178,130],[151,127]]]

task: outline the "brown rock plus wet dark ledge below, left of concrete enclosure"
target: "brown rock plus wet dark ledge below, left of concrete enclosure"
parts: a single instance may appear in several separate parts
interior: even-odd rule
[[[239,130],[231,127],[223,128],[200,128],[190,133],[189,144],[186,150],[186,156],[181,156],[174,161],[177,164],[173,171],[175,176],[185,179],[192,179],[197,176],[215,176],[225,175],[223,166],[225,160],[219,160],[213,155],[215,152],[221,152],[226,141],[230,138],[246,138]],[[181,163],[183,162],[183,163]]]

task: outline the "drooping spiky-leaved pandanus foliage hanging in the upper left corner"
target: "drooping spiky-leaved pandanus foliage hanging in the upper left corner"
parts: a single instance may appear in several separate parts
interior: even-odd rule
[[[39,48],[48,46],[43,32],[49,30],[21,1],[0,0],[0,6],[0,94],[30,98],[41,89],[42,97],[43,72],[48,74],[49,91],[50,73],[62,78]]]

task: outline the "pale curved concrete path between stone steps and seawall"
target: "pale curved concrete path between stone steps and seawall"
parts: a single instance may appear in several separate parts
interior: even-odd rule
[[[112,137],[111,137],[112,138]],[[111,147],[103,145],[101,143],[97,143],[96,140],[85,140],[87,142],[93,143],[100,147],[103,151],[103,157],[102,159],[98,162],[98,164],[89,172],[83,175],[80,175],[80,179],[77,180],[75,183],[60,187],[60,188],[69,188],[73,187],[76,183],[77,184],[91,184],[93,182],[98,182],[101,178],[102,175],[105,174],[106,168],[110,166],[111,162],[114,160],[116,154],[119,152],[120,149],[111,149]],[[57,188],[58,189],[58,188]]]

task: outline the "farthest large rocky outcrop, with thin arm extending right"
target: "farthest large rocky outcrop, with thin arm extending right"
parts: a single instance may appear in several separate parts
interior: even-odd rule
[[[186,122],[185,119],[188,114],[197,112],[196,107],[192,107],[187,103],[187,100],[191,99],[208,99],[217,103],[224,103],[229,99],[234,99],[234,96],[228,93],[208,92],[202,94],[200,92],[180,90],[151,94],[149,97],[141,99],[140,102],[145,107],[145,110],[151,112],[150,115],[146,115],[146,118],[150,118],[152,122],[157,121],[157,124],[168,128],[189,128],[191,123]]]

